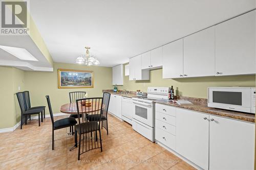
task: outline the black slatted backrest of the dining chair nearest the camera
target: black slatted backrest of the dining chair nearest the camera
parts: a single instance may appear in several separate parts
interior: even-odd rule
[[[100,122],[101,111],[103,105],[103,98],[88,98],[88,99],[77,99],[76,108],[78,117],[81,113],[86,114],[86,117],[91,117],[90,122]],[[89,105],[88,105],[88,104]],[[78,118],[79,129],[81,132],[81,120]],[[93,124],[92,124],[93,125]],[[94,128],[94,127],[91,127]]]

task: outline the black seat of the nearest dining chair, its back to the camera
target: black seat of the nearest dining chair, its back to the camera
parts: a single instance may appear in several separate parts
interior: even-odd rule
[[[81,123],[81,134],[90,133],[99,130],[99,124],[98,122],[85,122]],[[80,134],[79,125],[75,126],[75,130],[78,134]]]

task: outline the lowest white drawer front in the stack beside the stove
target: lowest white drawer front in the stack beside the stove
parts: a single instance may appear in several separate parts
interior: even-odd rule
[[[156,140],[160,141],[168,148],[176,150],[176,136],[156,128]]]

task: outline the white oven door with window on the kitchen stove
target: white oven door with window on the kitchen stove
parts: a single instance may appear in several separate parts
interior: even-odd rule
[[[153,104],[133,101],[133,109],[134,119],[147,126],[154,127]]]

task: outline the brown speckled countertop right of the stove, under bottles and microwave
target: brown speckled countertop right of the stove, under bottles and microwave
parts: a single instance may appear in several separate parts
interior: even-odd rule
[[[191,100],[191,99],[192,98],[190,98],[189,101],[191,103],[193,103],[193,105],[178,105],[176,103],[169,102],[168,100],[157,100],[155,102],[160,103],[160,104],[170,105],[170,106],[176,106],[179,108],[204,112],[204,113],[208,113],[208,114],[229,117],[229,118],[233,118],[233,119],[239,119],[239,120],[243,120],[245,122],[255,123],[255,114],[211,108],[211,107],[207,107],[207,99],[197,99],[197,98],[194,98],[194,100]],[[184,100],[188,100],[188,98],[186,98]],[[203,101],[200,102],[200,100],[203,100]],[[205,100],[206,100],[206,102],[205,102]]]

